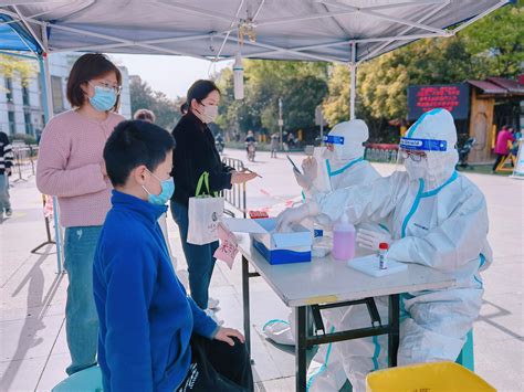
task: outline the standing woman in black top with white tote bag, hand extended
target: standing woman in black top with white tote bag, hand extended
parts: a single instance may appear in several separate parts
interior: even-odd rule
[[[188,203],[195,197],[200,176],[209,173],[210,192],[231,189],[256,177],[255,173],[237,172],[220,160],[214,138],[208,127],[218,116],[220,91],[211,81],[197,81],[189,88],[187,109],[172,131],[177,149],[172,155],[172,178],[176,189],[171,199],[171,214],[180,231],[184,254],[188,263],[191,297],[202,309],[216,308],[218,301],[208,304],[209,283],[214,267],[218,241],[206,245],[188,244]]]

